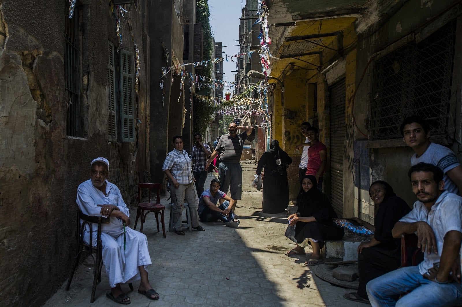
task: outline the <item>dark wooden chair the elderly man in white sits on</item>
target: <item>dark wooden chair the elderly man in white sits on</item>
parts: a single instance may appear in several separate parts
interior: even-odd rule
[[[80,223],[82,221],[82,223]],[[97,229],[97,243],[96,246],[93,246],[93,230],[91,228],[91,223],[95,223],[98,225]],[[85,215],[82,213],[82,211],[78,210],[77,211],[77,231],[75,232],[76,239],[77,239],[77,254],[75,256],[74,264],[72,267],[72,272],[71,276],[69,277],[69,280],[67,281],[66,285],[66,291],[69,290],[69,287],[71,286],[72,278],[75,273],[75,269],[77,268],[77,265],[79,264],[79,259],[80,255],[84,252],[89,253],[91,258],[93,258],[93,287],[91,288],[91,297],[90,297],[90,302],[95,301],[95,291],[96,291],[96,285],[98,282],[101,282],[101,268],[103,266],[103,256],[102,256],[102,251],[103,251],[103,245],[101,243],[101,225],[102,224],[109,224],[109,217],[103,217],[103,216],[89,216]],[[86,244],[84,242],[84,229],[85,225],[88,225],[90,228],[90,242],[89,244]],[[128,284],[130,287],[130,290],[133,291],[133,285],[131,283]]]

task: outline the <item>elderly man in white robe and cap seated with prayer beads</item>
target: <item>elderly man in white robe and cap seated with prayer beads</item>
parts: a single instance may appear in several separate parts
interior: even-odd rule
[[[146,235],[129,227],[130,218],[127,205],[120,190],[106,178],[109,161],[99,157],[91,161],[90,179],[81,183],[77,189],[77,204],[86,215],[109,216],[109,224],[102,225],[103,262],[109,278],[111,291],[106,296],[120,304],[130,304],[131,300],[122,289],[122,283],[141,279],[138,292],[151,300],[158,300],[158,293],[152,289],[146,271],[151,262]],[[97,242],[97,225],[93,224],[92,242]],[[126,244],[124,246],[124,228]],[[86,225],[84,240],[89,242],[90,229]]]

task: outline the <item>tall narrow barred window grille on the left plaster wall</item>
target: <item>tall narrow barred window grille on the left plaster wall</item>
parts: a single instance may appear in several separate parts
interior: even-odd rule
[[[68,18],[64,32],[64,70],[67,94],[67,135],[84,136],[80,106],[80,45],[79,45],[79,9],[75,8],[72,18]]]

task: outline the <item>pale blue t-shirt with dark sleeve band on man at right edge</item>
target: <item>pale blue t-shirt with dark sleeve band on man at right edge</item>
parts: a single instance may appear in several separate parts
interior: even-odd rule
[[[419,158],[417,158],[417,154],[415,153],[412,155],[411,166],[414,166],[420,162],[438,166],[438,168],[440,168],[444,173],[444,189],[448,190],[448,192],[459,194],[459,188],[446,174],[446,172],[449,172],[454,167],[460,165],[456,155],[452,152],[452,150],[443,145],[430,143],[430,146],[427,148],[425,153],[423,153]]]

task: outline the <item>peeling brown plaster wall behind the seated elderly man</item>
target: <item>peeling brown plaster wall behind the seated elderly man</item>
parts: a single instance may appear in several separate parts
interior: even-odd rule
[[[108,37],[117,42],[106,2],[81,1],[82,101],[87,137],[66,135],[64,22],[66,1],[0,5],[0,301],[40,306],[67,279],[75,248],[77,186],[88,179],[91,159],[110,162],[109,181],[128,205],[146,171],[146,42],[138,8],[122,21],[124,48],[140,49],[135,142],[108,142]],[[128,23],[130,25],[128,25]],[[46,285],[46,286],[45,286]],[[76,286],[76,285],[71,285]],[[27,294],[27,295],[24,295]]]

